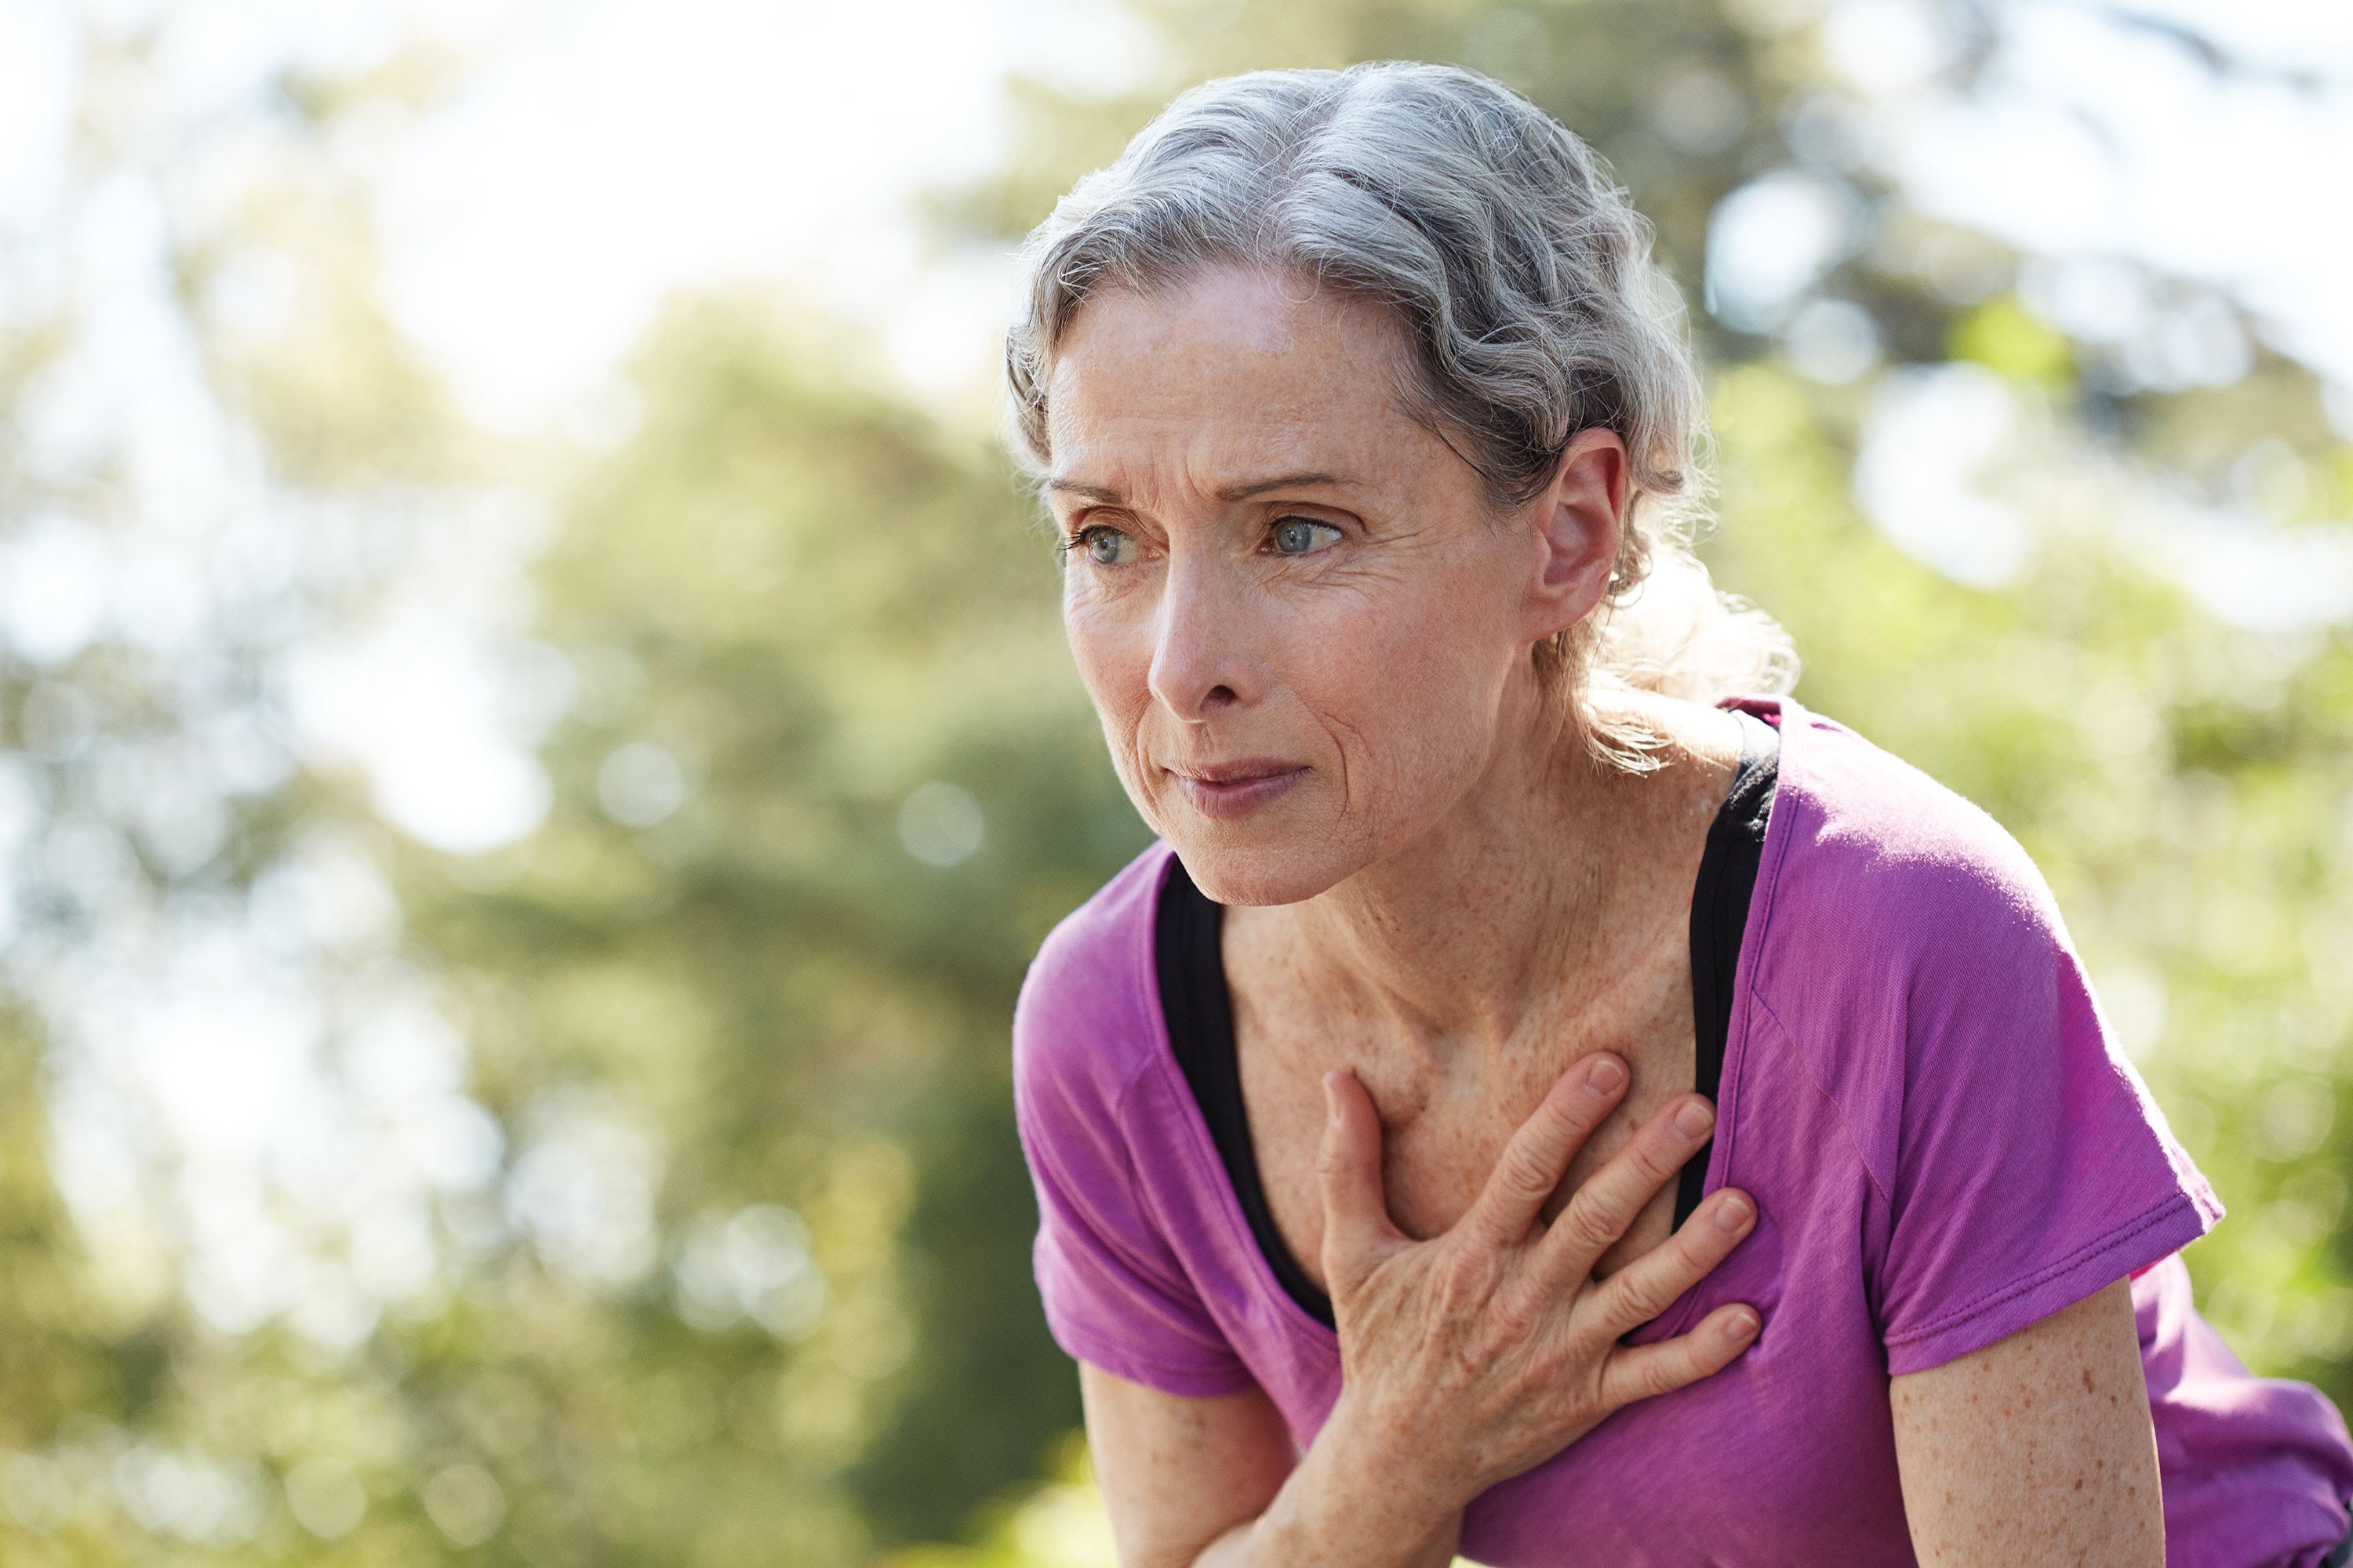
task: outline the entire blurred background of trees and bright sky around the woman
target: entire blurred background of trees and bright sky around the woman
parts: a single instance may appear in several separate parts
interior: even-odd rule
[[[1111,1563],[1007,1018],[1148,835],[1007,256],[1377,56],[1609,155],[1720,583],[2353,1401],[2353,9],[0,0],[0,1561]]]

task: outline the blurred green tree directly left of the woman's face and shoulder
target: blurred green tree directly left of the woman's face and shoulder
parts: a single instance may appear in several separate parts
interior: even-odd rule
[[[555,811],[461,882],[407,877],[412,929],[480,997],[487,1103],[532,1126],[593,1093],[659,1150],[668,1241],[612,1281],[605,1333],[645,1399],[701,1387],[727,1420],[659,1472],[584,1443],[586,1495],[661,1500],[645,1552],[680,1516],[734,1530],[779,1476],[854,1474],[882,1528],[951,1535],[1075,1415],[1033,1321],[1005,1020],[1038,938],[1144,835],[998,458],[812,339],[744,301],[656,334],[645,428],[539,569],[584,682]],[[744,1227],[793,1211],[814,1267],[779,1298],[800,1260]],[[511,1354],[536,1345],[560,1342]]]

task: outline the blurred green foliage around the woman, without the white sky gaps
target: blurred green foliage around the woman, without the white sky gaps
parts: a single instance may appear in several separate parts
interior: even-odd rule
[[[1984,364],[2045,444],[2249,484],[2280,527],[2346,515],[2353,449],[2301,369],[2122,390],[2101,346],[2019,303],[1998,244],[1908,212],[1842,148],[1842,89],[1809,28],[1758,21],[1774,9],[1139,0],[1155,75],[1108,99],[1016,85],[1016,155],[936,212],[1024,230],[1205,75],[1459,59],[1614,160],[1692,299],[1725,193],[1802,167],[1866,214],[1871,242],[1817,294],[1866,306],[1887,360]],[[304,85],[301,134],[344,96]],[[489,473],[482,444],[369,303],[365,226],[306,200],[181,261],[198,320],[207,268],[247,242],[318,284],[280,339],[200,331],[205,367],[287,494],[449,501]],[[2346,630],[2233,628],[2099,508],[2040,508],[2031,564],[1998,590],[1939,576],[1849,496],[1868,383],[1817,386],[1769,336],[1694,329],[1715,367],[1718,581],[1791,625],[1800,701],[2033,851],[2231,1204],[2191,1251],[2200,1300],[2261,1371],[2353,1399]],[[0,336],[5,407],[61,336]],[[7,997],[0,1561],[1108,1561],[1075,1380],[1028,1279],[1005,1032],[1035,943],[1146,832],[1061,649],[1031,498],[984,433],[868,386],[866,360],[760,301],[682,301],[635,364],[635,437],[560,482],[532,473],[560,527],[529,630],[572,698],[541,750],[553,809],[520,844],[405,844],[322,771],[238,797],[193,867],[125,830],[155,910],[242,907],[320,825],[365,846],[400,900],[398,945],[372,957],[431,978],[506,1150],[487,1190],[438,1199],[433,1284],[372,1333],[224,1333],[188,1309],[169,1239],[75,1232],[42,1114],[66,1053],[33,985]],[[0,456],[5,534],[59,496]],[[2014,470],[2035,487],[2064,463],[2019,451]],[[322,555],[367,559],[320,527]],[[304,628],[362,616],[367,571],[315,576]],[[224,632],[238,701],[264,684],[268,625]],[[0,762],[38,773],[54,820],[99,820],[120,795],[101,757],[212,733],[216,705],[186,689],[115,644],[47,670],[0,658]],[[122,907],[42,903],[40,950],[71,954]]]

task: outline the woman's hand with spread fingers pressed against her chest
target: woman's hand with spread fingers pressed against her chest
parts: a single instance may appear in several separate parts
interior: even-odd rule
[[[1569,1067],[1513,1133],[1454,1229],[1414,1241],[1388,1218],[1381,1124],[1351,1072],[1325,1074],[1322,1269],[1339,1319],[1344,1389],[1332,1425],[1355,1443],[1409,1448],[1384,1465],[1428,1486],[1445,1519],[1497,1481],[1541,1465],[1612,1410],[1720,1371],[1758,1333],[1727,1305],[1689,1333],[1628,1347],[1748,1234],[1755,1206],[1718,1192],[1659,1248],[1595,1281],[1593,1262],[1708,1140],[1713,1107],[1682,1095],[1652,1117],[1546,1227],[1544,1201],[1617,1107],[1626,1065]],[[1393,1500],[1405,1502],[1405,1500]]]

